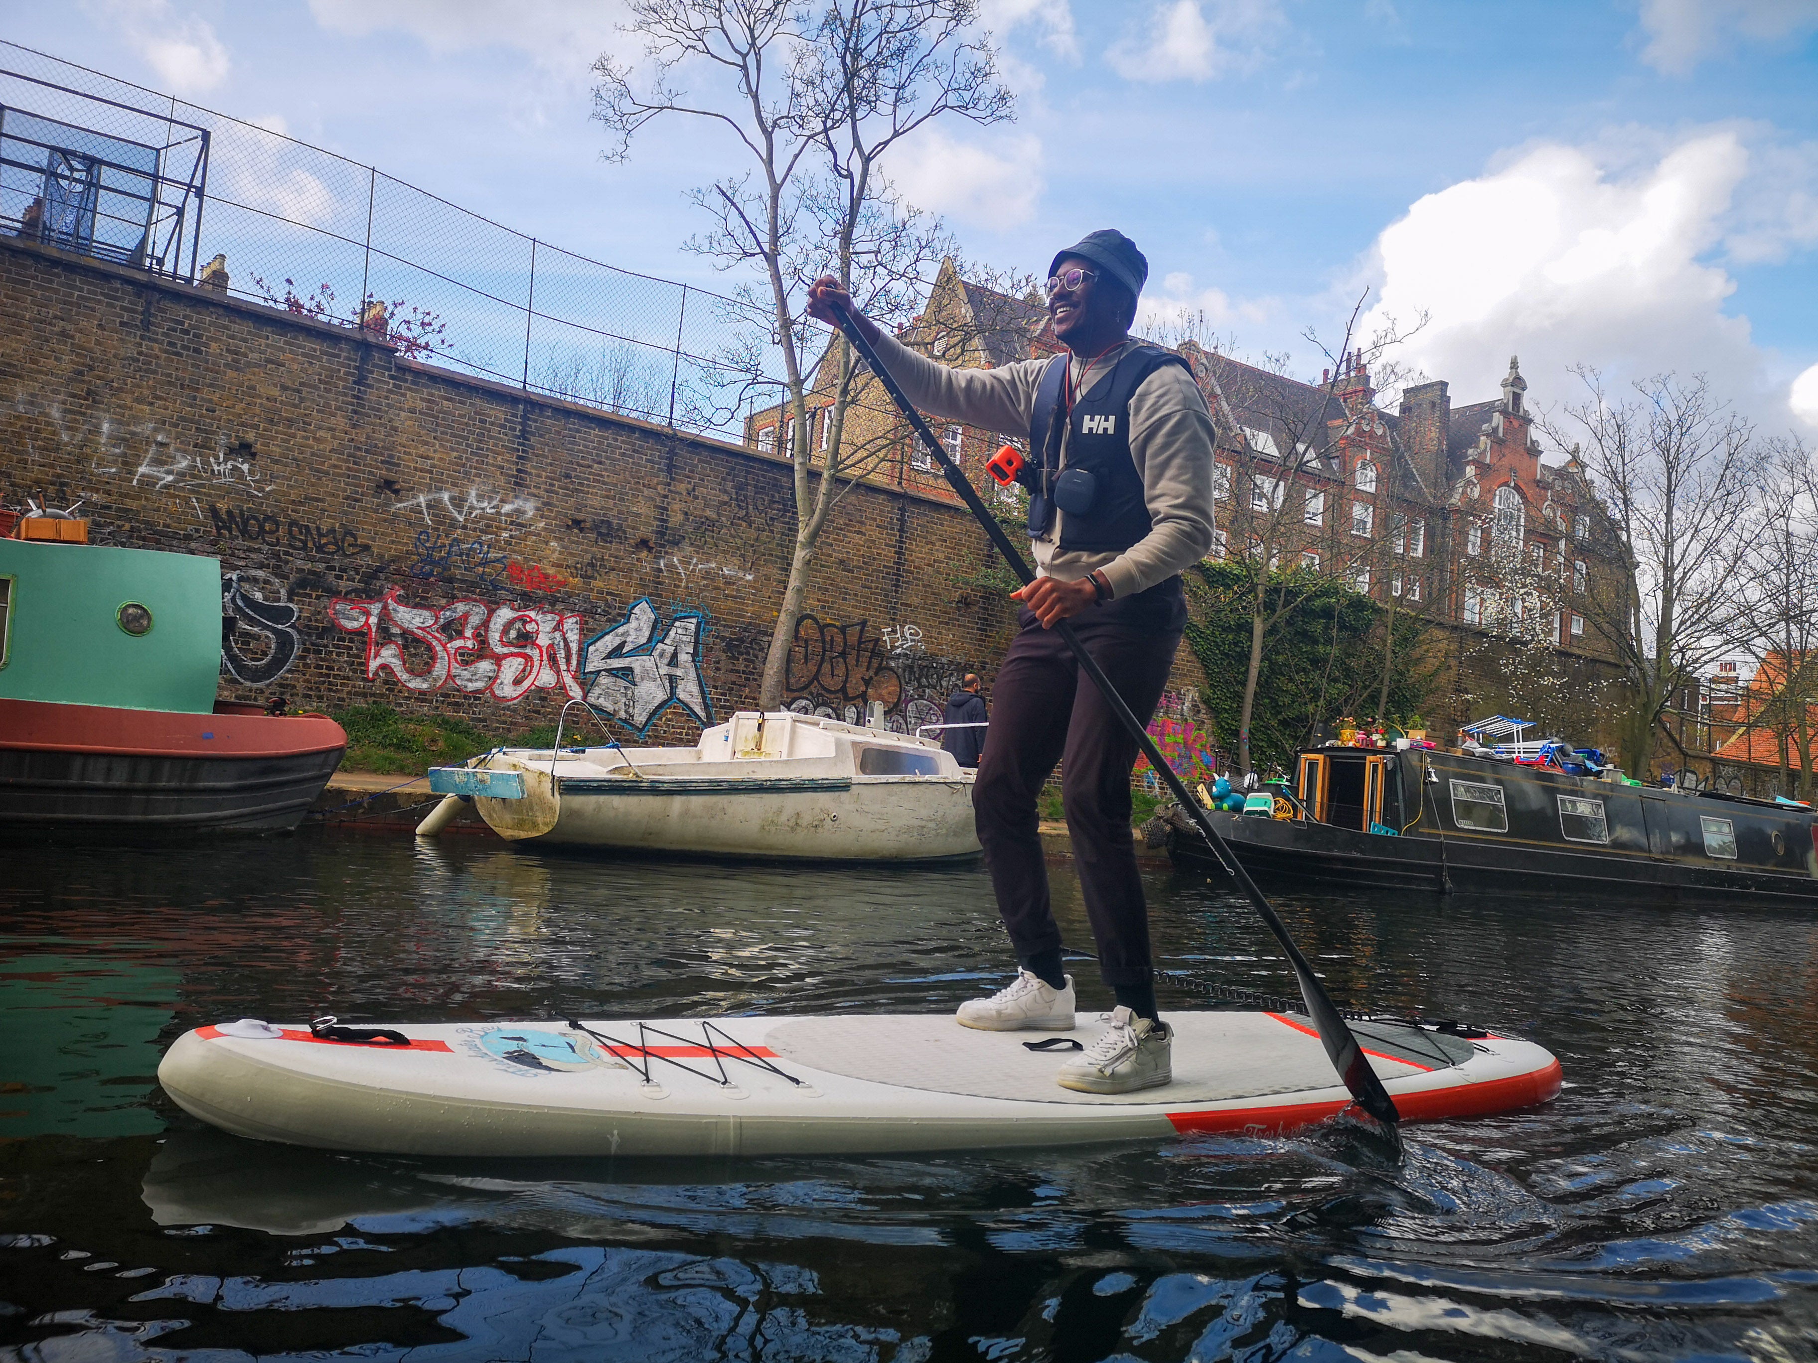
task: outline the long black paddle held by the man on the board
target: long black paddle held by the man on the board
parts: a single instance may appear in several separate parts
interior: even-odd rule
[[[858,351],[871,373],[876,374],[884,391],[891,394],[891,400],[907,418],[909,425],[914,427],[914,433],[922,436],[922,443],[927,445],[929,454],[940,462],[940,471],[953,485],[953,491],[960,494],[960,500],[971,509],[973,516],[978,518],[978,523],[985,527],[985,534],[991,538],[991,543],[996,545],[996,551],[1004,554],[1004,562],[1011,565],[1024,585],[1034,582],[1034,571],[1024,562],[1022,552],[1014,543],[1011,543],[1004,527],[998,525],[996,516],[985,509],[984,500],[967,482],[960,465],[947,454],[947,447],[934,438],[934,433],[927,429],[927,422],[922,420],[922,414],[914,409],[914,405],[911,405],[909,398],[904,396],[904,391],[896,387],[896,380],[891,376],[891,371],[884,367],[878,353],[871,349],[871,342],[860,334],[851,313],[842,309],[836,316],[840,318],[840,331],[845,333],[853,349]],[[1345,1089],[1351,1090],[1356,1105],[1383,1125],[1391,1141],[1396,1145],[1396,1150],[1400,1150],[1396,1123],[1402,1119],[1402,1114],[1394,1110],[1394,1099],[1389,1098],[1389,1090],[1382,1087],[1382,1079],[1376,1078],[1376,1070],[1369,1067],[1369,1061],[1364,1058],[1364,1049],[1358,1045],[1358,1040],[1351,1034],[1345,1020],[1333,1005],[1325,987],[1314,978],[1307,958],[1300,954],[1300,947],[1296,947],[1294,940],[1287,934],[1287,927],[1284,927],[1280,916],[1276,916],[1274,905],[1264,898],[1264,892],[1256,889],[1256,881],[1251,880],[1249,872],[1242,867],[1242,863],[1238,863],[1236,854],[1225,845],[1225,840],[1218,836],[1218,829],[1213,827],[1213,821],[1200,807],[1200,801],[1187,794],[1187,787],[1182,785],[1180,776],[1176,776],[1174,769],[1167,765],[1162,751],[1154,745],[1154,740],[1149,738],[1149,731],[1144,729],[1142,720],[1138,720],[1131,712],[1131,707],[1124,703],[1124,698],[1111,685],[1109,678],[1105,678],[1104,671],[1100,671],[1093,654],[1089,654],[1085,645],[1080,643],[1080,636],[1073,632],[1073,625],[1065,620],[1058,620],[1054,623],[1054,631],[1067,642],[1067,647],[1073,649],[1073,656],[1080,662],[1080,671],[1093,680],[1094,687],[1098,687],[1098,694],[1105,698],[1105,703],[1111,705],[1113,712],[1142,747],[1142,752],[1149,758],[1149,765],[1154,769],[1156,776],[1167,783],[1169,792],[1173,792],[1180,807],[1187,811],[1194,825],[1198,825],[1225,871],[1229,871],[1238,885],[1244,887],[1244,892],[1249,896],[1249,901],[1256,909],[1262,921],[1274,934],[1274,940],[1282,943],[1282,950],[1287,952],[1287,960],[1294,965],[1294,980],[1300,981],[1300,998],[1307,1003],[1307,1016],[1313,1018],[1313,1025],[1320,1032],[1320,1041],[1325,1045],[1325,1054],[1333,1060],[1333,1069],[1336,1069],[1340,1078],[1345,1081]]]

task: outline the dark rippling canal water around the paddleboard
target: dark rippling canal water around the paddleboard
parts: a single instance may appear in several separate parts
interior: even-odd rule
[[[1398,1169],[1340,1132],[436,1161],[222,1136],[158,1058],[240,1016],[947,1010],[1002,983],[982,871],[345,834],[0,865],[4,1359],[1818,1358],[1811,912],[1280,896],[1340,1001],[1565,1067]],[[1220,885],[1147,885],[1165,967],[1291,992]]]

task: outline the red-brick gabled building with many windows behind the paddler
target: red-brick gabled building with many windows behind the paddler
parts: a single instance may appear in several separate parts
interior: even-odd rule
[[[898,334],[956,365],[996,367],[1060,349],[1040,300],[967,284],[951,260],[922,316]],[[1438,380],[1407,387],[1385,411],[1354,356],[1336,376],[1304,383],[1193,342],[1180,351],[1218,429],[1218,554],[1338,574],[1460,631],[1614,660],[1587,602],[1618,592],[1623,567],[1576,456],[1542,462],[1514,358],[1500,398],[1454,409],[1449,383]],[[829,431],[833,369],[824,360],[807,394],[814,447]],[[869,451],[867,482],[956,500],[882,393],[860,382],[851,407],[847,429]],[[994,489],[984,463],[1004,438],[933,425],[974,487]],[[747,443],[769,453],[791,429],[785,409],[760,411],[747,422]],[[996,496],[1020,505],[1020,492]]]

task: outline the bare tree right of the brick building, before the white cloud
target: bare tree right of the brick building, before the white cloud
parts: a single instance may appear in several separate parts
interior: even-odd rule
[[[1547,429],[1562,447],[1582,434],[1598,536],[1627,567],[1578,600],[1622,665],[1618,747],[1640,776],[1673,698],[1747,632],[1740,583],[1762,460],[1753,427],[1703,376],[1660,374],[1618,398],[1594,369],[1576,373],[1585,402],[1565,405],[1567,429]]]

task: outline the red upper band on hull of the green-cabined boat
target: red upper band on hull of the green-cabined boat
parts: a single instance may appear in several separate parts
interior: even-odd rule
[[[0,700],[0,749],[129,758],[296,758],[338,747],[347,747],[347,734],[325,714],[189,714]]]

